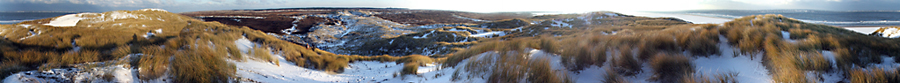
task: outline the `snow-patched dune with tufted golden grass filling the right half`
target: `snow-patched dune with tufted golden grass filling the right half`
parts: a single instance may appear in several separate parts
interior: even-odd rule
[[[546,17],[546,16],[538,16]],[[634,82],[623,77],[651,73],[649,82],[736,82],[735,76],[744,73],[722,73],[709,76],[696,74],[691,58],[761,56],[771,81],[768,82],[898,82],[896,67],[874,66],[882,57],[898,57],[898,39],[868,36],[840,27],[810,24],[781,15],[756,15],[714,24],[646,23],[652,21],[621,21],[635,18],[608,18],[612,24],[574,28],[550,28],[530,31],[527,36],[508,35],[505,39],[481,41],[479,44],[448,56],[445,67],[474,67],[476,73],[488,74],[489,82],[537,82],[536,66],[521,61],[540,61],[540,58],[510,58],[533,56],[528,49],[540,49],[560,56],[562,65],[571,72],[598,66],[608,68],[604,82]],[[601,20],[601,21],[602,21]],[[643,24],[642,24],[643,23]],[[528,31],[532,28],[524,28]],[[565,32],[562,32],[565,31]],[[538,34],[535,34],[538,33]],[[540,33],[548,34],[541,36]],[[566,33],[566,34],[560,34]],[[521,34],[513,32],[511,34]],[[531,37],[531,35],[537,35]],[[718,44],[726,43],[726,44]],[[720,45],[734,47],[722,51]],[[730,49],[730,48],[727,48]],[[491,56],[493,60],[467,60],[476,56]],[[507,53],[509,52],[509,53]],[[725,53],[734,52],[734,53]],[[733,55],[723,55],[733,54]],[[506,57],[503,57],[506,56]],[[687,58],[685,58],[687,57]],[[487,62],[484,62],[487,61]],[[897,61],[897,60],[893,60]],[[484,66],[493,65],[493,66]],[[520,68],[521,66],[526,68]],[[647,66],[648,69],[642,69]],[[478,70],[488,68],[492,70]],[[520,71],[520,72],[507,72]],[[558,72],[558,71],[557,71]],[[515,74],[510,74],[515,73]],[[560,74],[560,73],[557,73]],[[564,73],[563,73],[564,74]],[[841,78],[822,78],[820,75]],[[566,75],[549,74],[547,79],[574,79]],[[553,77],[555,76],[555,77]],[[465,78],[465,76],[462,76]],[[492,80],[503,78],[502,80]],[[556,80],[556,82],[567,82]]]

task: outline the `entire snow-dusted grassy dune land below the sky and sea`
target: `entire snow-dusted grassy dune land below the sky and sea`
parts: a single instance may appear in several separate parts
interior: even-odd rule
[[[144,9],[0,36],[4,82],[857,83],[897,82],[900,68],[898,39],[780,15]]]

